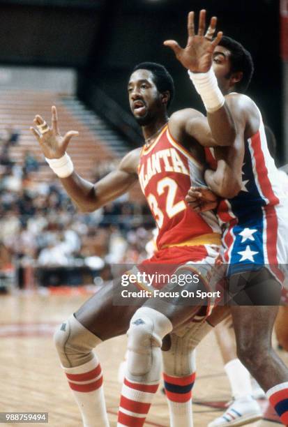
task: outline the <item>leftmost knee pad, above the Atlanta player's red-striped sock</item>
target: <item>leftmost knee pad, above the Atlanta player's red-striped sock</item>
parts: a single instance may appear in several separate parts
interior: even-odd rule
[[[93,359],[92,349],[101,340],[71,315],[56,329],[54,343],[63,368],[73,368]]]

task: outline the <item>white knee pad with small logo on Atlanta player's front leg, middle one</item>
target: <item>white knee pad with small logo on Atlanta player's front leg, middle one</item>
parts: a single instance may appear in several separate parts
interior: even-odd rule
[[[155,365],[157,373],[153,373],[153,362],[161,359],[162,338],[170,331],[172,323],[159,311],[149,307],[141,307],[136,311],[128,330],[127,366],[131,375],[137,377],[149,374],[150,381],[158,380],[158,360]]]

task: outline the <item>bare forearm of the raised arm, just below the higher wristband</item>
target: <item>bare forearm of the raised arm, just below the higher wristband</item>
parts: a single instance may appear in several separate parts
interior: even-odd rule
[[[236,138],[236,126],[227,104],[225,103],[215,112],[207,112],[207,119],[216,144],[232,145]]]

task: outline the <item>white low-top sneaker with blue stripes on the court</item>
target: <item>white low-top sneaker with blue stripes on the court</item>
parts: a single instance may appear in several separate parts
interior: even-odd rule
[[[232,400],[222,417],[208,424],[208,427],[244,426],[262,418],[262,410],[250,396]]]

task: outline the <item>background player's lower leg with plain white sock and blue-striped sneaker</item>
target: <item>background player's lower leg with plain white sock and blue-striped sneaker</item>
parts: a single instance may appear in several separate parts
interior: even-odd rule
[[[225,364],[224,368],[233,400],[221,417],[209,423],[209,427],[225,427],[236,423],[241,426],[260,419],[262,411],[256,400],[252,398],[250,373],[236,355],[236,340],[231,315],[218,324],[214,331]]]

